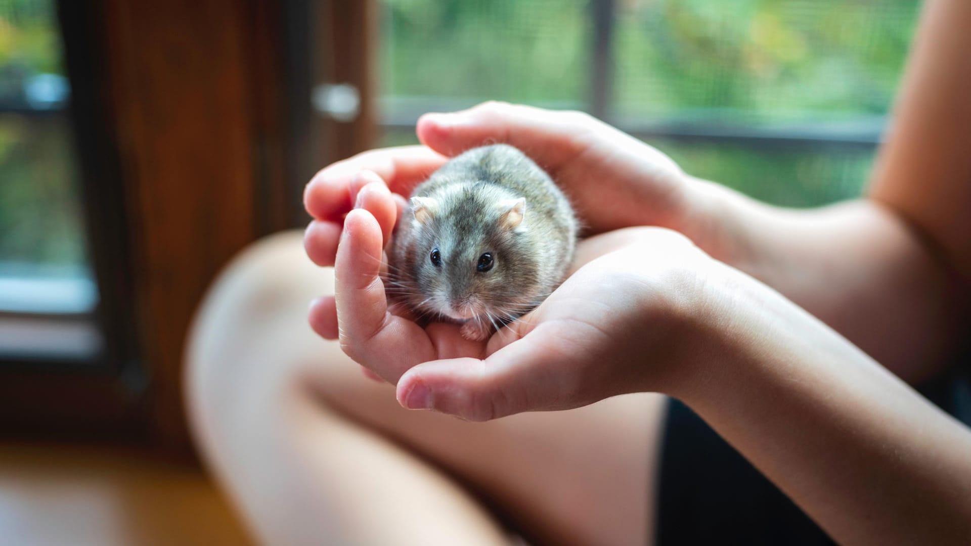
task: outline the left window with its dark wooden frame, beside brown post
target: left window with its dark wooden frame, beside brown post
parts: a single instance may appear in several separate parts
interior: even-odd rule
[[[114,433],[145,392],[91,6],[0,0],[0,431]],[[70,47],[67,45],[70,44]],[[107,288],[107,290],[105,290]]]

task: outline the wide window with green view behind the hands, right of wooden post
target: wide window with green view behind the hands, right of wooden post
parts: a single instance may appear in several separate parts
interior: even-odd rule
[[[383,143],[495,98],[577,108],[759,199],[857,195],[917,21],[899,0],[380,2]]]

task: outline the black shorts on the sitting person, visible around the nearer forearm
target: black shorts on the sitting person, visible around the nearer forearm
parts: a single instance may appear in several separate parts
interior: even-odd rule
[[[964,370],[921,393],[971,425]],[[656,544],[834,544],[779,488],[687,406],[670,400],[657,490]]]

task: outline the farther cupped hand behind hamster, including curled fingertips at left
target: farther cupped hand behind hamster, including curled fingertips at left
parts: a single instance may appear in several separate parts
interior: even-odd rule
[[[369,183],[407,196],[448,157],[500,142],[516,146],[551,174],[577,209],[586,235],[657,225],[686,234],[709,252],[717,246],[712,241],[720,229],[704,212],[703,183],[667,155],[586,114],[487,102],[452,114],[426,114],[418,136],[421,146],[355,155],[324,168],[307,185],[304,204],[315,219],[307,229],[307,252],[315,262],[333,264],[343,218],[368,199],[361,189]],[[386,240],[396,209],[375,217]]]

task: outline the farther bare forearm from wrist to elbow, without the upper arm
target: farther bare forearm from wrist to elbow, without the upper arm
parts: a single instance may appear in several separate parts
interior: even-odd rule
[[[895,213],[868,200],[782,209],[699,184],[732,241],[709,241],[710,254],[779,290],[908,382],[953,360],[966,294]]]

